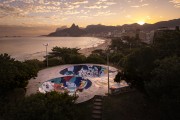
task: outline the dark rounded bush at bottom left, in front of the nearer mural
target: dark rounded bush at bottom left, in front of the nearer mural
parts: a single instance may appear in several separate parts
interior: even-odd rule
[[[37,93],[11,106],[6,120],[75,120],[76,97],[67,93]]]

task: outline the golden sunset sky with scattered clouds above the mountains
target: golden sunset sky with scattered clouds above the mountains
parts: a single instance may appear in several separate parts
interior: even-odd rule
[[[81,27],[180,18],[180,0],[0,0],[0,25]]]

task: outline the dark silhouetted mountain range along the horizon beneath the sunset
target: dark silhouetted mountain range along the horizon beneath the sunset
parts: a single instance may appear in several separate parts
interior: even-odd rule
[[[134,24],[124,24],[122,26],[105,26],[105,25],[88,25],[86,28],[79,28],[78,25],[72,24],[70,28],[57,28],[55,32],[50,33],[48,36],[71,36],[71,37],[80,37],[80,36],[88,36],[92,34],[100,34],[100,33],[108,33],[114,31],[120,31],[123,28],[130,29],[140,29],[143,31],[150,32],[152,30],[156,30],[162,27],[174,28],[176,26],[180,26],[180,18],[169,20],[169,21],[161,21],[155,24],[144,24],[139,25],[137,23]]]

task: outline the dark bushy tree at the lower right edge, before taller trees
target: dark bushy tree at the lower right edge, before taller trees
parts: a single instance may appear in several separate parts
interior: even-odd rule
[[[156,65],[152,80],[145,83],[148,97],[158,104],[163,119],[180,119],[180,57],[167,57]]]

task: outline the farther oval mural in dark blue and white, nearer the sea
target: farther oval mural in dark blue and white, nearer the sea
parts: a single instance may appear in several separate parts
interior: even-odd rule
[[[101,77],[107,74],[107,69],[97,65],[75,65],[60,71],[62,75],[75,75],[80,77]]]

